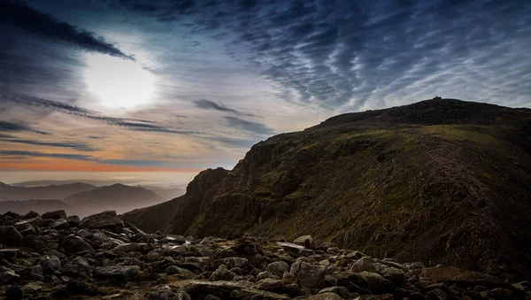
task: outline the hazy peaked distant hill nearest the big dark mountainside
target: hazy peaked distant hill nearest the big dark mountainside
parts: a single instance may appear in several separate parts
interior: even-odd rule
[[[113,184],[68,196],[65,198],[65,203],[80,207],[90,213],[103,211],[121,213],[159,204],[164,200],[146,188]]]

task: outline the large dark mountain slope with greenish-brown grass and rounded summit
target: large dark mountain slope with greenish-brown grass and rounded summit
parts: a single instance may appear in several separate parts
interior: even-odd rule
[[[374,257],[529,278],[529,182],[531,110],[427,100],[273,136],[234,170],[204,171],[185,196],[123,218],[180,235],[309,234]],[[154,224],[163,207],[171,224]]]

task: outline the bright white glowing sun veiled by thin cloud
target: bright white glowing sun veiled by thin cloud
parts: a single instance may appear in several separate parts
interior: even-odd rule
[[[155,76],[131,60],[91,54],[84,73],[89,92],[110,108],[135,108],[149,104]]]

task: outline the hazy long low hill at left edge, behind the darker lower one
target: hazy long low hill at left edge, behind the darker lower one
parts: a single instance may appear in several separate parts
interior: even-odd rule
[[[95,188],[93,185],[81,182],[33,188],[14,187],[0,182],[0,202],[38,199],[62,200],[67,196]]]

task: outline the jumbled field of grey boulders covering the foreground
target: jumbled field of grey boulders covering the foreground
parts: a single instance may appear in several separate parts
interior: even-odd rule
[[[531,299],[529,283],[294,242],[146,234],[116,212],[0,215],[4,299]]]

